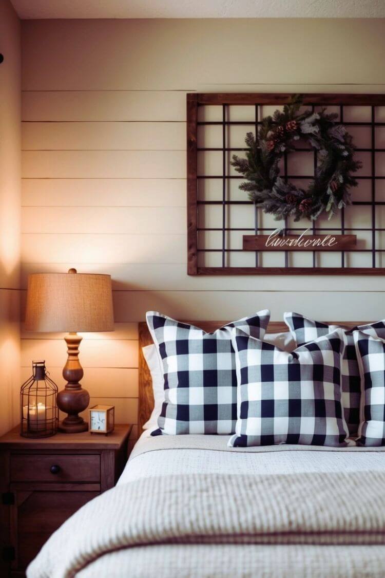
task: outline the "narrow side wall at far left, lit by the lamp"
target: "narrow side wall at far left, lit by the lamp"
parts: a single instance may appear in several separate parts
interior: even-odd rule
[[[20,22],[0,0],[0,435],[18,422],[20,388]]]

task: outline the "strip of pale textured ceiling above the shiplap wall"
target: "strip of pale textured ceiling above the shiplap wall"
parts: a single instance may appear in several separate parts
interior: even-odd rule
[[[11,0],[20,18],[384,18],[385,0]]]

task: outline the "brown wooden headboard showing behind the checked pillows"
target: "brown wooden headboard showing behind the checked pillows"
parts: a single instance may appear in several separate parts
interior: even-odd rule
[[[229,321],[185,321],[191,325],[196,325],[210,333],[215,331],[222,325],[226,325]],[[324,321],[329,325],[341,325],[346,329],[351,329],[356,325],[364,325],[370,323],[369,321]],[[270,321],[267,328],[267,333],[280,333],[287,331],[287,325],[283,321]],[[149,416],[151,416],[154,408],[154,395],[152,394],[151,374],[145,362],[142,347],[153,343],[150,332],[148,331],[147,323],[142,321],[139,323],[139,413],[138,413],[138,432],[141,434],[143,424],[146,423]]]

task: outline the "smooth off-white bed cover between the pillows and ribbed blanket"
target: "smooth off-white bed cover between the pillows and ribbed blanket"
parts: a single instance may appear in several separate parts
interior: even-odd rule
[[[227,447],[229,436],[143,433],[118,484],[181,473],[253,475],[302,472],[385,472],[385,447],[260,446]]]

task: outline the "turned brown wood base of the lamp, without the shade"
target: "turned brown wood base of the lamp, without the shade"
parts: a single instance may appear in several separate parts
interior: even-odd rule
[[[83,338],[76,333],[70,333],[64,339],[67,344],[68,360],[63,368],[63,377],[67,383],[58,393],[57,404],[58,408],[68,415],[59,423],[59,431],[80,433],[88,430],[88,424],[79,413],[87,409],[89,404],[88,391],[79,383],[84,375],[79,361],[79,346]]]

